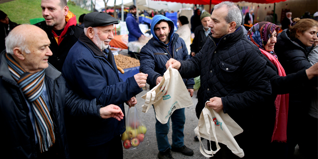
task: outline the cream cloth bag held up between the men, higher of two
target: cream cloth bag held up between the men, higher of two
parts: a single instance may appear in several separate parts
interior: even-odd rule
[[[168,122],[176,109],[193,105],[191,96],[176,69],[169,67],[158,85],[142,96],[145,99],[143,112],[154,105],[156,118],[161,124]]]

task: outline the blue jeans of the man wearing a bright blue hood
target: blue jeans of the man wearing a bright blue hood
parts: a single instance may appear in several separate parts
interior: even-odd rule
[[[156,115],[156,112],[155,112]],[[170,118],[172,121],[172,145],[176,148],[182,147],[183,144],[183,129],[185,123],[184,108],[175,110],[172,115],[169,117],[169,120],[166,124],[161,124],[156,118],[156,137],[158,150],[161,152],[171,149],[171,146],[168,141],[168,132],[170,128]]]

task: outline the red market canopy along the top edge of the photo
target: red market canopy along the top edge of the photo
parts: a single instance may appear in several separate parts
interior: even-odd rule
[[[156,0],[156,1],[170,1],[178,3],[190,3],[190,4],[210,4],[210,0]],[[218,4],[224,0],[211,0],[211,4]],[[254,3],[275,3],[286,0],[230,0],[232,2],[254,2]]]

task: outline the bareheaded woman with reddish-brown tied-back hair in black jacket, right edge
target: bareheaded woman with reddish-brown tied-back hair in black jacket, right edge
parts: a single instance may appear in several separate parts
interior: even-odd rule
[[[277,36],[275,52],[285,69],[286,75],[312,66],[308,61],[308,53],[317,45],[315,43],[318,40],[317,32],[317,21],[294,18],[289,29],[283,30]],[[290,93],[287,130],[290,158],[294,155],[297,144],[302,152],[312,155],[311,159],[317,159],[318,157],[318,106],[315,108],[316,111],[309,112],[311,108],[310,100],[314,95],[312,91],[317,91],[313,87],[317,87],[317,85],[318,79],[315,78],[313,82],[308,82],[301,88],[296,89],[295,92]],[[306,129],[302,130],[300,126]]]

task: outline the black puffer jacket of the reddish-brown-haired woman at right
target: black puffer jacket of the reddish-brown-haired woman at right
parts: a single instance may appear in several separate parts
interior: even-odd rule
[[[283,30],[277,36],[277,43],[274,51],[278,56],[278,60],[285,69],[286,75],[306,70],[312,66],[308,61],[308,54],[311,47],[306,47],[298,39],[290,39],[288,29]],[[290,114],[295,112],[306,112],[309,108],[309,99],[312,98],[311,86],[317,86],[318,78],[315,77],[310,82],[304,83],[302,87],[298,87],[290,93]],[[291,114],[292,115],[292,114]]]

